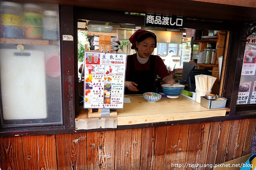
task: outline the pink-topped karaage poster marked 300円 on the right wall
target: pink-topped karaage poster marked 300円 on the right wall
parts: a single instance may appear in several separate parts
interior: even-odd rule
[[[256,70],[255,56],[256,56],[256,50],[245,50],[241,75],[244,75],[244,76],[255,75],[255,70]]]

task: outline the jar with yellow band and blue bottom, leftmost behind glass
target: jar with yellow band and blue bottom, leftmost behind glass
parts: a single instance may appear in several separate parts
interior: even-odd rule
[[[15,2],[2,2],[2,27],[4,38],[24,38],[22,6]]]

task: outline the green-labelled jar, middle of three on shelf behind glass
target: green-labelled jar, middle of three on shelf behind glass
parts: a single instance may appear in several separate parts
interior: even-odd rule
[[[42,38],[42,9],[36,4],[24,4],[26,38]]]

